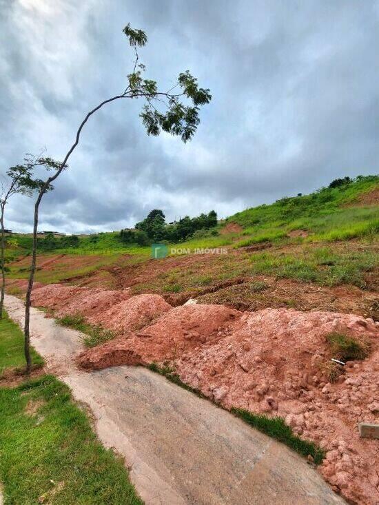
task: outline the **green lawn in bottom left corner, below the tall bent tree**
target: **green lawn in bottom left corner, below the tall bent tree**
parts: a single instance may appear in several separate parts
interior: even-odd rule
[[[142,504],[121,458],[52,375],[0,389],[0,447],[6,504]]]

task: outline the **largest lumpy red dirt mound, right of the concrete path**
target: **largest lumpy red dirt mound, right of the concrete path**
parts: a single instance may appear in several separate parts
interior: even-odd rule
[[[324,365],[325,336],[341,331],[371,343],[336,384]],[[354,503],[379,502],[379,441],[358,435],[358,422],[379,421],[379,325],[359,316],[265,309],[245,313],[223,338],[176,362],[183,382],[225,408],[285,418],[295,433],[327,451],[320,470]]]

